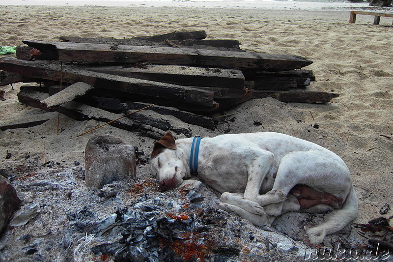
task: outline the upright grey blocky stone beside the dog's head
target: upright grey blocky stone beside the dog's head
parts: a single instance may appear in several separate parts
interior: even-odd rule
[[[131,181],[136,177],[135,149],[121,138],[96,135],[85,149],[85,183],[101,189],[113,181]]]

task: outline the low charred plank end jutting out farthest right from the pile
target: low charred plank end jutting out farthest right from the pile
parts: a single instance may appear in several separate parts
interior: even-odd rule
[[[255,91],[255,98],[274,97],[281,102],[329,102],[335,97],[337,93],[322,92],[322,91]]]

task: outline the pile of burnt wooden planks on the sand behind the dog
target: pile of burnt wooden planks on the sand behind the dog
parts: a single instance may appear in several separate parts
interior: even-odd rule
[[[154,103],[148,111],[111,123],[149,130],[153,137],[169,129],[190,135],[188,124],[214,128],[212,112],[252,98],[327,102],[338,96],[308,90],[315,78],[302,69],[312,63],[306,58],[244,52],[237,40],[204,38],[205,31],[192,31],[23,41],[26,46],[17,47],[17,58],[0,58],[0,86],[40,83],[22,87],[19,101],[59,109],[78,120],[110,121]],[[184,126],[172,126],[170,117]]]

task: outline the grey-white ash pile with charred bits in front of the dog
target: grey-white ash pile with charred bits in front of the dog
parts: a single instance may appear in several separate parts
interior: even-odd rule
[[[308,247],[299,228],[306,220],[299,221],[299,214],[284,218],[297,221],[290,237],[280,233],[291,233],[282,224],[278,229],[255,227],[217,209],[219,197],[199,181],[160,192],[149,167],[140,169],[145,175],[138,180],[113,182],[101,190],[85,187],[82,167],[55,166],[15,178],[12,184],[23,204],[0,239],[2,261],[304,259]],[[307,223],[315,219],[321,217]]]

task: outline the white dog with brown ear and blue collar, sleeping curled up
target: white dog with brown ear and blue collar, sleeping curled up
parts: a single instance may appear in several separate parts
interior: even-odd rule
[[[162,190],[197,175],[222,193],[220,208],[254,225],[271,225],[288,211],[335,210],[307,231],[318,244],[352,221],[358,200],[345,163],[311,142],[279,133],[226,134],[154,143],[151,170]]]

